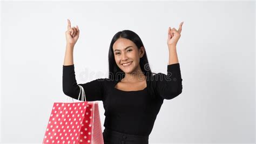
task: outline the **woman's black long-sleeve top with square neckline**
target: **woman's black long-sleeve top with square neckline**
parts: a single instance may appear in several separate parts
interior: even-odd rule
[[[104,127],[126,134],[149,136],[164,99],[177,97],[183,88],[179,63],[167,65],[167,74],[146,78],[146,88],[139,91],[118,90],[114,86],[120,80],[109,78],[77,84],[74,69],[74,65],[63,65],[64,94],[78,99],[78,85],[83,86],[86,101],[103,101]]]

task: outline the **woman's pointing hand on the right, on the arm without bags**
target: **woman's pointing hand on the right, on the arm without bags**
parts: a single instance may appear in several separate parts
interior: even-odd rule
[[[170,46],[176,46],[178,43],[178,40],[181,36],[181,29],[182,29],[183,22],[180,23],[178,31],[175,28],[169,27],[168,30],[168,39],[167,39],[167,45]]]

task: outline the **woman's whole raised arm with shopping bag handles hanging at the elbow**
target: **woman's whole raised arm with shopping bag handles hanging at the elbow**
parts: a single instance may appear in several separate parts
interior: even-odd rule
[[[104,95],[104,80],[96,79],[85,84],[77,84],[75,75],[75,66],[73,63],[73,50],[79,37],[78,26],[71,28],[70,20],[68,19],[68,30],[66,34],[66,52],[63,65],[62,86],[65,95],[71,98],[78,99],[80,86],[83,86],[86,101],[102,100]],[[79,100],[82,100],[80,94]]]

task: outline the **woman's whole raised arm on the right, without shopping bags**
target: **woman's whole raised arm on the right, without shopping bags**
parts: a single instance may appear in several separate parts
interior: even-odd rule
[[[157,73],[153,76],[153,86],[157,95],[163,99],[173,99],[177,97],[183,89],[180,65],[177,56],[176,45],[181,36],[183,22],[180,23],[179,29],[168,30],[167,45],[169,48],[169,65],[167,65],[167,75]]]

